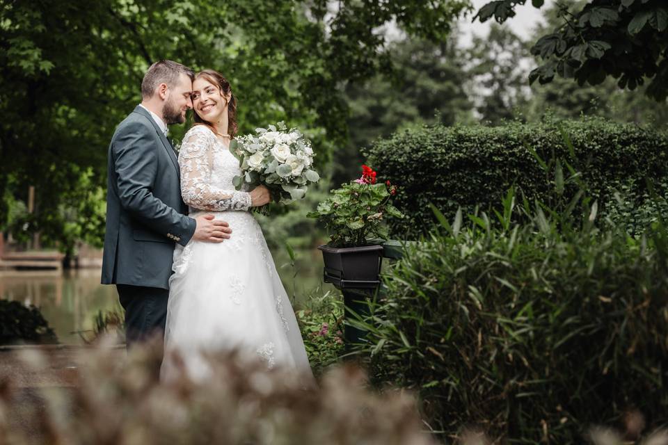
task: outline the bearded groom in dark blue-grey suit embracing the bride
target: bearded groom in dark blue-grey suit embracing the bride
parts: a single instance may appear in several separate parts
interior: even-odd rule
[[[102,284],[116,284],[128,347],[163,334],[175,243],[220,243],[232,232],[212,215],[186,216],[181,198],[167,126],[185,122],[192,81],[193,72],[180,63],[151,65],[141,82],[141,104],[109,145]]]

